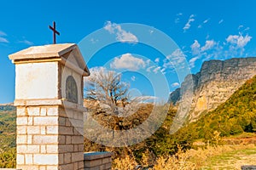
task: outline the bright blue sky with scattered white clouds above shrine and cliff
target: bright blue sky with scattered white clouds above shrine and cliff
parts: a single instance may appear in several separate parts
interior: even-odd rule
[[[80,42],[83,54],[89,53],[83,47],[84,38],[91,36],[88,46],[93,48],[101,43],[100,37],[93,37],[99,36],[96,31],[108,33],[116,42],[85,56],[88,66],[122,71],[133,92],[167,99],[183,81],[183,74],[200,71],[205,60],[255,56],[255,6],[253,0],[2,1],[0,104],[15,99],[15,65],[8,55],[52,43],[48,26],[53,20],[61,32],[57,42]],[[148,26],[148,31],[134,24]],[[173,44],[157,39],[161,33],[172,38]],[[150,36],[148,44],[156,42],[159,48],[141,43]],[[170,54],[160,50],[169,46]],[[186,71],[174,68],[174,61],[174,65],[186,63]]]

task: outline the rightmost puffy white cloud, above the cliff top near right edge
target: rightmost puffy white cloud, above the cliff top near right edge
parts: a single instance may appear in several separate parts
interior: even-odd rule
[[[244,48],[247,45],[247,42],[250,42],[253,37],[246,35],[243,37],[240,35],[230,35],[226,38],[226,41],[235,45],[237,48]]]

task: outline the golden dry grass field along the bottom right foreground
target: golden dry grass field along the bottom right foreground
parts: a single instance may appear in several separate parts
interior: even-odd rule
[[[149,158],[143,158],[147,160]],[[148,164],[140,164],[148,167]],[[146,161],[150,162],[150,160]],[[151,161],[153,162],[153,161]],[[178,150],[174,156],[161,156],[154,161],[151,170],[193,170],[193,169],[239,169],[241,165],[256,164],[256,148],[254,144],[218,145],[199,148],[197,150]],[[133,156],[113,161],[114,170],[133,170],[138,163]]]

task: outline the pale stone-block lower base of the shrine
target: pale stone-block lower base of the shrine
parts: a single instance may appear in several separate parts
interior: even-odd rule
[[[83,135],[77,130],[83,129],[83,112],[68,113],[70,118],[58,105],[17,107],[17,168],[84,169]]]

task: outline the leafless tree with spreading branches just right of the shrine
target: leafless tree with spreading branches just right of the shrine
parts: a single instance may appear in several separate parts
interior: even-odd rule
[[[85,98],[98,101],[109,115],[118,116],[119,108],[129,102],[129,84],[121,81],[121,74],[114,71],[93,71],[85,82]]]

